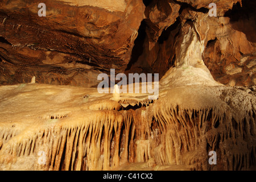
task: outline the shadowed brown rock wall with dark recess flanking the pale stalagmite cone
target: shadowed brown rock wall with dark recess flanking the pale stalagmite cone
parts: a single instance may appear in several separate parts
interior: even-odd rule
[[[168,7],[163,3],[152,1],[146,7],[146,20],[144,20],[146,25],[143,26],[146,37],[143,39],[140,55],[136,57],[136,60],[131,60],[134,63],[131,71],[155,72],[159,73],[160,77],[163,76],[168,69],[174,66],[177,53],[175,47],[178,46],[178,35],[182,34],[181,27],[185,22],[191,21],[200,39],[204,40],[203,60],[213,77],[225,85],[255,85],[256,18],[253,2],[216,2],[217,17],[208,15],[210,1],[169,2],[176,3],[176,6]],[[167,28],[164,27],[164,31],[160,29],[158,22],[151,22],[149,15],[158,14],[166,23],[166,14],[159,14],[155,6],[158,9],[164,6],[164,9],[169,9],[169,11],[176,7],[175,11],[179,11],[179,16],[174,13],[170,14],[172,18],[168,16],[169,23],[172,24]],[[150,12],[149,15],[147,12]],[[159,34],[159,38],[155,36]],[[155,37],[158,39],[154,39]]]

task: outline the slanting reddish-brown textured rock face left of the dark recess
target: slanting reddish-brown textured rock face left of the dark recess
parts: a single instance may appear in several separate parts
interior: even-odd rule
[[[92,86],[97,75],[124,71],[144,17],[142,1],[2,1],[2,84],[30,80]],[[92,4],[90,4],[92,3]]]

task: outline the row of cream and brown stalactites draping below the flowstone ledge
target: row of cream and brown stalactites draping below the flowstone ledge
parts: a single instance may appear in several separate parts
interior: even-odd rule
[[[177,105],[98,110],[93,118],[46,126],[12,141],[15,130],[1,130],[0,155],[10,158],[1,157],[0,163],[34,156],[32,168],[40,170],[108,170],[151,158],[158,165],[185,164],[203,170],[255,165],[255,110],[241,121],[228,111],[189,110]],[[39,151],[46,154],[45,165],[36,163]],[[217,153],[215,166],[208,163],[209,151]]]

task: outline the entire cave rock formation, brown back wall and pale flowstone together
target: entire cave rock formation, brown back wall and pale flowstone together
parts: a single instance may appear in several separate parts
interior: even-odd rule
[[[254,2],[39,3],[0,2],[1,170],[255,169]],[[113,68],[158,99],[99,93]]]

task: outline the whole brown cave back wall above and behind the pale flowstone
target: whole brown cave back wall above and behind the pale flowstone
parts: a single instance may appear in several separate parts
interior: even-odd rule
[[[209,3],[217,16],[209,16]],[[0,2],[1,85],[30,81],[94,86],[97,75],[159,73],[175,65],[177,35],[193,22],[203,60],[225,85],[255,85],[253,1]]]

